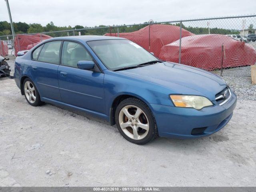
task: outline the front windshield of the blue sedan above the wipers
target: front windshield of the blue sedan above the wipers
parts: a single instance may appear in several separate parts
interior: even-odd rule
[[[130,40],[96,40],[89,41],[87,44],[109,70],[129,68],[158,60]]]

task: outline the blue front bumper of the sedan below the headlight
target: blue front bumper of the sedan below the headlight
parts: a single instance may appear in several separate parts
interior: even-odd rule
[[[222,106],[214,103],[214,106],[201,110],[158,104],[151,104],[151,107],[160,137],[199,138],[217,132],[229,122],[236,107],[236,94],[232,92],[231,98]],[[192,134],[195,128],[204,128],[204,132]]]

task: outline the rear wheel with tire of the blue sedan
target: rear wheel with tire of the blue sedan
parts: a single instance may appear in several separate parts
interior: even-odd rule
[[[26,78],[24,80],[23,90],[24,90],[24,96],[25,96],[28,104],[30,104],[32,106],[40,106],[43,104],[43,102],[40,99],[38,90],[30,78]]]

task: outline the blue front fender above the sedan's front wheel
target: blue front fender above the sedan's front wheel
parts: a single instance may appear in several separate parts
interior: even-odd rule
[[[110,115],[110,108],[112,107],[114,100],[121,95],[137,97],[145,102],[150,108],[150,104],[173,106],[169,98],[170,89],[166,87],[109,70],[104,70],[104,73],[105,106],[107,115]]]

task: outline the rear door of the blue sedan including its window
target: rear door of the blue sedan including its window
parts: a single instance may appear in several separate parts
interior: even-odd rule
[[[47,42],[32,54],[31,76],[41,97],[60,101],[58,66],[62,41]]]

